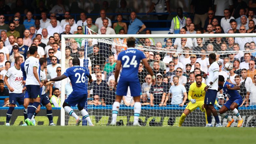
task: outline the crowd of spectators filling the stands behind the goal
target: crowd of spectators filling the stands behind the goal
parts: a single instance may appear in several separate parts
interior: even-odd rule
[[[29,47],[38,47],[38,56],[47,58],[47,79],[60,76],[61,73],[61,35],[62,34],[151,34],[151,30],[137,18],[136,12],[126,7],[126,1],[120,1],[120,8],[116,9],[117,15],[106,16],[113,13],[108,7],[107,1],[103,2],[104,8],[98,10],[100,17],[87,16],[87,12],[76,7],[62,5],[61,0],[52,8],[46,8],[43,1],[39,1],[38,8],[34,11],[25,9],[23,1],[17,0],[19,8],[11,10],[5,5],[5,0],[0,0],[0,95],[8,96],[8,88],[4,87],[3,79],[10,67],[15,66],[14,59],[22,56],[24,60],[29,57]],[[183,9],[177,8],[177,16],[172,19],[169,34],[220,34],[220,33],[256,33],[256,19],[254,1],[249,5],[237,0],[215,0],[214,8],[211,2],[192,0],[191,9],[194,13],[193,20],[183,15]],[[170,13],[169,0],[152,0],[149,12]],[[78,8],[74,10],[75,8]],[[68,11],[68,9],[70,9]],[[96,10],[96,8],[95,8]],[[73,12],[72,12],[73,11]],[[26,16],[21,16],[22,13]],[[80,20],[75,21],[72,13],[80,13]],[[13,16],[5,14],[14,13]],[[130,16],[122,15],[130,13]],[[40,16],[33,16],[40,14]],[[63,14],[64,17],[56,15]],[[48,16],[50,16],[48,18]],[[115,17],[116,16],[116,17]],[[167,15],[168,16],[168,15]],[[167,20],[166,15],[157,16],[159,20]],[[117,20],[116,23],[111,21]],[[122,22],[129,20],[129,23]],[[8,24],[6,24],[6,22]],[[164,24],[163,24],[164,25]],[[162,26],[162,24],[161,24]],[[88,27],[88,32],[86,27]],[[139,63],[138,76],[141,83],[142,105],[186,105],[189,86],[195,82],[196,74],[204,74],[209,68],[208,55],[210,52],[221,52],[217,55],[220,74],[225,80],[240,86],[240,95],[244,101],[242,106],[256,104],[256,39],[254,37],[237,38],[176,38],[166,39],[164,42],[155,41],[152,38],[139,39],[137,48],[141,49],[152,67],[156,76],[156,85],[151,84],[151,76]],[[67,39],[65,41],[65,66],[72,66],[72,58],[78,57],[80,65],[84,66],[85,45],[79,39]],[[91,98],[88,104],[111,105],[115,100],[114,74],[118,54],[126,49],[126,39],[114,39],[113,44],[92,41],[88,44],[88,69],[94,80],[89,85]],[[152,51],[151,51],[152,50]],[[163,52],[163,50],[167,50]],[[191,53],[197,52],[197,53]],[[182,52],[182,53],[179,53]],[[226,71],[224,65],[227,62],[233,64],[231,71]],[[203,82],[207,79],[203,78]],[[49,97],[55,95],[53,107],[58,107],[60,99],[61,83],[55,82],[45,90]],[[66,95],[72,92],[72,85],[68,82],[65,86]],[[222,91],[220,91],[222,93]],[[224,94],[224,93],[223,93]],[[220,104],[227,98],[219,95]],[[5,100],[7,105],[8,98]],[[129,95],[123,98],[123,104],[132,106],[133,98]],[[59,105],[60,106],[60,105]]]

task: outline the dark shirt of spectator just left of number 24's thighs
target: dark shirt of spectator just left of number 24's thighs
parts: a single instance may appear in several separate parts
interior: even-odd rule
[[[113,88],[110,90],[109,87],[106,87],[100,95],[100,98],[104,98],[106,105],[113,105],[116,100],[116,89]]]

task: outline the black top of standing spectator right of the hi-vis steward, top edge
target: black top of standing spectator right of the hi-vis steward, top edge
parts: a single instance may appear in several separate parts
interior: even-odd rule
[[[191,4],[195,7],[195,14],[205,14],[211,7],[211,1],[209,0],[192,0]]]

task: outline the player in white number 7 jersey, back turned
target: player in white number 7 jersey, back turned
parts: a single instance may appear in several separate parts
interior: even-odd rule
[[[31,119],[40,104],[42,83],[40,82],[40,64],[37,56],[37,46],[31,46],[29,49],[30,56],[25,60],[24,70],[26,72],[26,88],[29,97],[27,107],[28,118],[25,120],[27,125],[34,125]]]

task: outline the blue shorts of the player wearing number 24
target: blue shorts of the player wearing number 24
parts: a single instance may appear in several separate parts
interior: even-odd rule
[[[130,90],[131,90],[131,96],[136,97],[136,96],[140,96],[142,94],[139,81],[128,82],[128,81],[123,81],[121,79],[119,80],[119,82],[117,84],[116,94],[119,96],[127,95],[128,86],[130,87]]]

